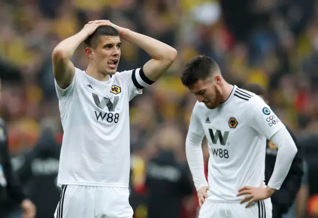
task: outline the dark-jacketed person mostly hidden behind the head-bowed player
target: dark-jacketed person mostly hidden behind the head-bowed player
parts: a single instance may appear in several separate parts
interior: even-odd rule
[[[259,95],[263,100],[268,104],[267,93],[265,89],[258,84],[246,84],[242,89],[253,92]],[[303,158],[302,158],[302,149],[299,146],[299,142],[295,135],[291,132],[291,130],[286,127],[292,136],[298,152],[292,162],[290,170],[287,174],[286,179],[284,180],[283,185],[280,190],[276,191],[272,197],[272,205],[273,205],[273,218],[282,218],[283,214],[286,214],[288,210],[293,205],[298,190],[301,186],[302,176],[303,176]],[[271,177],[274,165],[276,161],[277,155],[277,146],[273,145],[271,142],[267,141],[266,145],[266,158],[265,158],[265,183],[267,184],[269,178]]]

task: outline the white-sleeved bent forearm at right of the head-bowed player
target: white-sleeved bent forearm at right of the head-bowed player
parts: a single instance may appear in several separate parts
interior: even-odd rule
[[[274,171],[267,186],[279,190],[297,153],[297,147],[286,128],[279,130],[270,140],[278,147],[278,152]]]

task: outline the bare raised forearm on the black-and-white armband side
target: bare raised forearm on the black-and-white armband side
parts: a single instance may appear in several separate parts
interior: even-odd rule
[[[174,61],[176,57],[177,52],[174,48],[149,36],[127,29],[121,37],[143,49],[153,59]]]

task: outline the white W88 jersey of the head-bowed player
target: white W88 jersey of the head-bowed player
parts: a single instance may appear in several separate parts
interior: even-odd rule
[[[189,131],[206,136],[209,147],[208,200],[237,202],[239,188],[264,181],[266,138],[285,126],[257,95],[234,86],[216,109],[194,106]]]

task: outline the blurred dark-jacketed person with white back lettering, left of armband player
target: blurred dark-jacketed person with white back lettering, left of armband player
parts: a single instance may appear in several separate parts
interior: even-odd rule
[[[57,186],[61,145],[56,141],[59,124],[49,118],[41,123],[41,136],[35,147],[25,153],[17,174],[37,207],[35,218],[50,218],[60,199]]]

